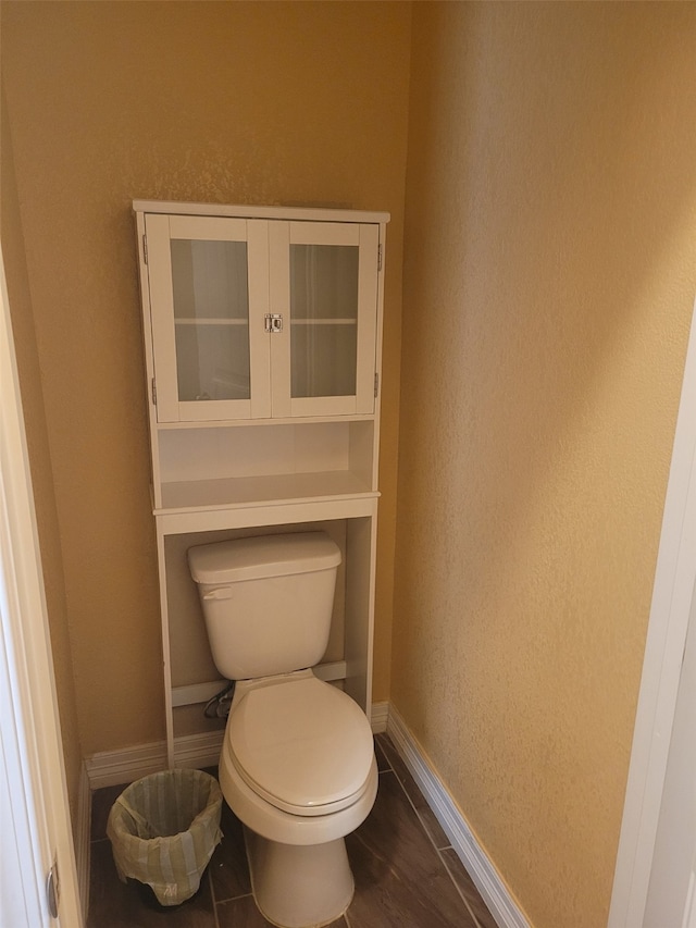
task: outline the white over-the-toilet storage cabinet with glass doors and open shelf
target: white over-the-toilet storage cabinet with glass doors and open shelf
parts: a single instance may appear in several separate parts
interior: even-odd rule
[[[207,763],[220,681],[187,576],[201,540],[327,530],[328,660],[371,705],[387,213],[136,200],[167,754]]]

